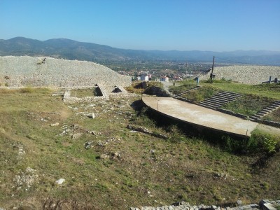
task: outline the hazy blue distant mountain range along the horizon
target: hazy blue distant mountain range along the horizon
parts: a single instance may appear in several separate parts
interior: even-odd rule
[[[125,50],[107,45],[84,43],[66,38],[38,41],[31,38],[15,37],[0,39],[0,56],[29,55],[48,56],[87,61],[133,61],[161,60],[180,62],[212,62],[213,56],[220,63],[263,64],[280,66],[280,51],[237,50],[232,52],[179,51],[179,50]]]

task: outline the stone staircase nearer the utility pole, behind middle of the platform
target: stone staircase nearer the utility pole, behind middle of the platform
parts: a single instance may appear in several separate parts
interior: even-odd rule
[[[235,99],[238,99],[239,97],[242,96],[243,94],[236,93],[236,92],[221,91],[218,92],[217,94],[214,94],[212,97],[200,102],[198,105],[208,109],[216,110],[217,108],[220,108],[225,104],[233,102],[235,101]]]

